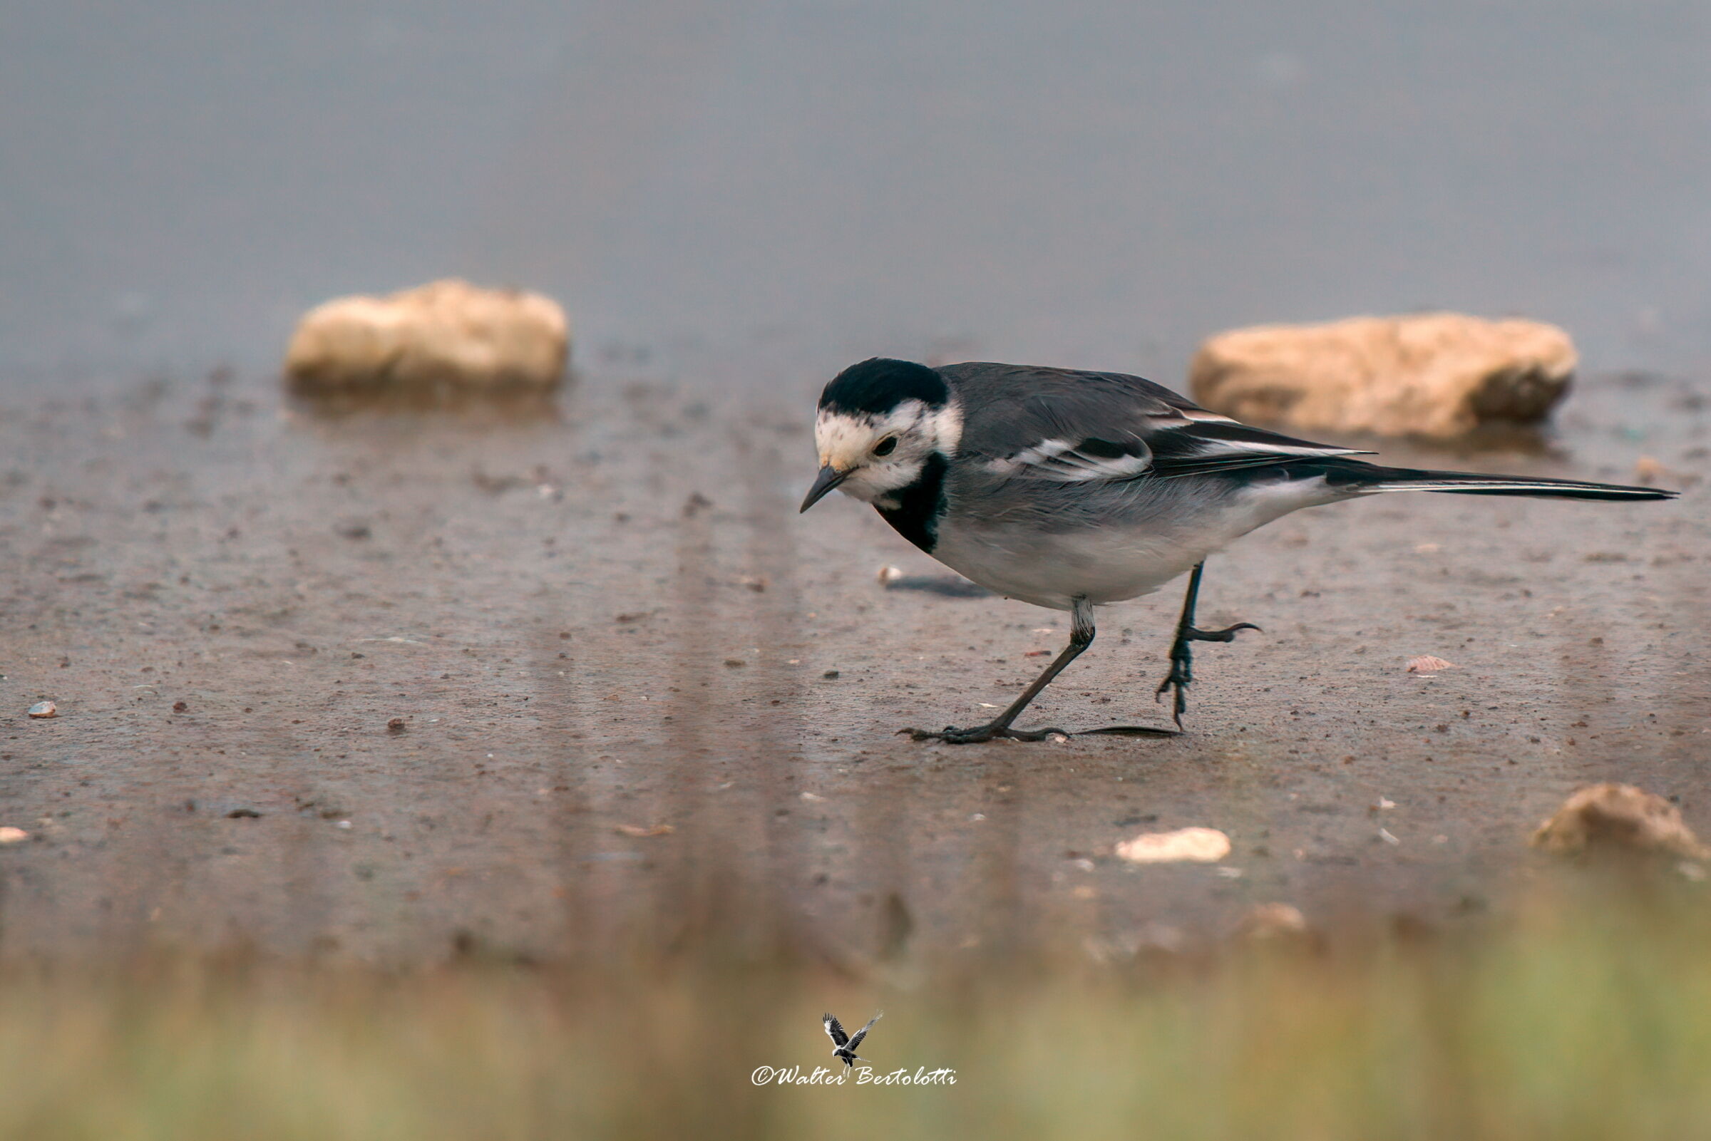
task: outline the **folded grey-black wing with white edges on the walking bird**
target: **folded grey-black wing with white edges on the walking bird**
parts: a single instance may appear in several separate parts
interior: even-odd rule
[[[1359,453],[1240,424],[1122,373],[1018,364],[939,373],[962,397],[958,457],[1003,477],[1095,482]]]

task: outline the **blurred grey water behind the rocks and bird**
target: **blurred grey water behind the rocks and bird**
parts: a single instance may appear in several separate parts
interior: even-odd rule
[[[1711,363],[1711,15],[1287,5],[0,0],[0,383],[265,368],[330,294],[559,296],[585,361],[1181,380],[1453,306]]]

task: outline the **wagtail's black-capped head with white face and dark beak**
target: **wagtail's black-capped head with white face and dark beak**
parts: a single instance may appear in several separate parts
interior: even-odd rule
[[[820,476],[802,510],[833,488],[895,506],[891,493],[921,479],[934,452],[953,455],[960,438],[962,407],[936,371],[885,358],[850,364],[820,393]]]

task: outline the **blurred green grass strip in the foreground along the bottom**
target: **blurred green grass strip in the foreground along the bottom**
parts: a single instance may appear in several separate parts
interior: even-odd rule
[[[790,953],[380,970],[157,955],[0,972],[0,1136],[536,1138],[1711,1136],[1702,893],[1540,895],[1470,931],[833,967]],[[886,1016],[878,1073],[825,1009]]]

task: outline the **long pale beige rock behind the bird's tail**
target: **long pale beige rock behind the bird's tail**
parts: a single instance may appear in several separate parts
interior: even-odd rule
[[[1194,354],[1189,387],[1208,409],[1244,421],[1444,438],[1543,419],[1576,359],[1569,335],[1542,322],[1355,316],[1218,334]]]

